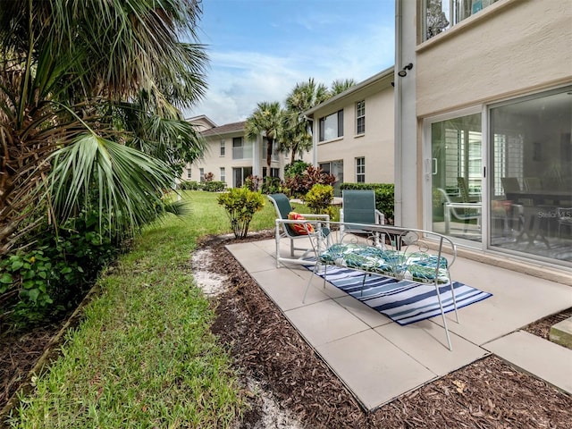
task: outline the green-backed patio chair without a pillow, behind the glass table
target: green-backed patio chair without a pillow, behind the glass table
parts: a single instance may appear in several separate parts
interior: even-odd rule
[[[375,208],[375,192],[372,189],[344,189],[341,194],[340,210],[341,236],[349,233],[371,235],[371,231],[348,228],[344,223],[365,223],[368,225],[383,225],[385,217]],[[379,234],[374,234],[374,244],[378,246]]]

